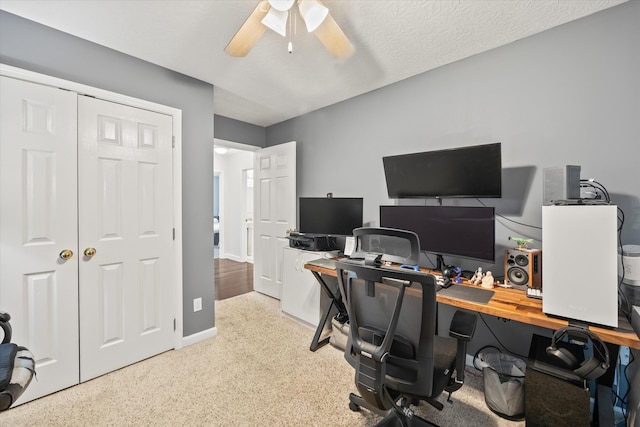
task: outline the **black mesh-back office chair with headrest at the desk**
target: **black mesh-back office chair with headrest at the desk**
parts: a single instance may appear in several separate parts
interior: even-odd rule
[[[410,406],[423,400],[441,410],[436,398],[462,386],[476,315],[458,310],[450,336],[438,336],[436,278],[412,268],[419,256],[417,235],[364,228],[354,236],[354,256],[364,259],[336,263],[349,313],[345,358],[356,369],[360,393],[349,396],[349,407],[383,416],[379,426],[433,425]]]

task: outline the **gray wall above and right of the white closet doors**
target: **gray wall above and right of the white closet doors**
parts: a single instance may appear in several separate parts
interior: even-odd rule
[[[0,62],[182,110],[184,335],[212,328],[213,86],[4,11]]]

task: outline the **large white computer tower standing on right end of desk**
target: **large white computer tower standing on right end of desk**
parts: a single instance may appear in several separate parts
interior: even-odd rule
[[[542,207],[542,311],[618,327],[617,207]]]

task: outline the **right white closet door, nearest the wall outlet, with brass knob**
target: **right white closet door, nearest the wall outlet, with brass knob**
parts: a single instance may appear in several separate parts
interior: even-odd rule
[[[173,348],[173,131],[171,116],[85,96],[78,122],[86,381]]]

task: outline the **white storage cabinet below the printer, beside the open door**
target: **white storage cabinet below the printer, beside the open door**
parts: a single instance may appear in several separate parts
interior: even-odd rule
[[[284,248],[280,310],[314,327],[318,326],[328,297],[304,265],[314,259],[335,257],[336,252]]]

